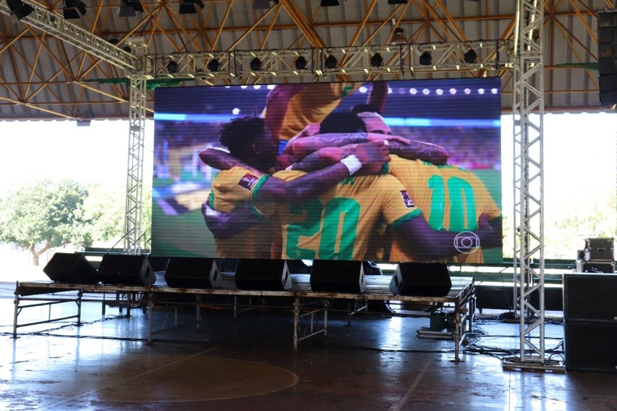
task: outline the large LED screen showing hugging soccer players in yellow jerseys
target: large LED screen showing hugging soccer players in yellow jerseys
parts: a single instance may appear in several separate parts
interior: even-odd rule
[[[152,254],[501,262],[500,88],[159,87]]]

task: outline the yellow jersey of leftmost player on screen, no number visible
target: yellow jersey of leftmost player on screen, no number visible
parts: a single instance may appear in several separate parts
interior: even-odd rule
[[[272,205],[255,202],[259,189],[268,177],[268,174],[257,173],[238,166],[223,170],[212,180],[210,206],[214,210],[230,213],[238,201],[252,201],[252,213],[271,216],[274,213]],[[272,227],[273,222],[268,219],[231,238],[215,238],[218,257],[270,258]]]

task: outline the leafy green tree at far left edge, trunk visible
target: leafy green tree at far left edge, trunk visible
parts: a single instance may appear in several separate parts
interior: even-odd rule
[[[91,245],[91,224],[83,208],[88,193],[71,179],[31,181],[9,192],[0,202],[0,242],[27,248],[35,266],[51,248]]]

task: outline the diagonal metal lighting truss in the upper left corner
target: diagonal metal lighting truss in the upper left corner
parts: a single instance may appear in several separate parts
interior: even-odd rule
[[[78,47],[78,49],[89,52],[99,57],[99,59],[124,68],[125,70],[138,71],[141,69],[141,60],[120,49],[120,47],[114,46],[114,44],[109,43],[109,41],[93,35],[88,30],[68,22],[59,15],[43,9],[43,7],[35,3],[25,3],[30,5],[34,11],[26,17],[23,17],[21,20],[22,23],[27,23],[28,25],[38,28],[66,43]],[[0,12],[10,15],[6,0],[0,0]]]

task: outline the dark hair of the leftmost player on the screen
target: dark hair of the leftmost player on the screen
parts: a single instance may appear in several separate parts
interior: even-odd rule
[[[246,160],[251,152],[249,147],[265,134],[265,121],[254,116],[234,118],[223,124],[218,134],[219,141],[230,150],[231,155]]]

